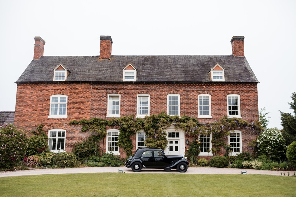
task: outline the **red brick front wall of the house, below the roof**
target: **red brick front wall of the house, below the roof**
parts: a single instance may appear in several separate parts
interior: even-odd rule
[[[190,117],[198,117],[198,94],[210,94],[212,118],[198,119],[201,123],[214,122],[227,115],[227,94],[239,94],[241,117],[249,122],[259,120],[257,84],[174,84],[174,83],[18,83],[15,109],[15,124],[29,133],[39,124],[44,125],[48,134],[50,128],[66,130],[66,151],[71,151],[73,143],[90,134],[82,133],[79,126],[69,125],[71,120],[89,120],[93,117],[105,119],[107,115],[108,93],[120,93],[121,116],[136,116],[137,94],[150,94],[150,115],[167,112],[167,94],[180,94],[180,112]],[[63,94],[68,96],[68,118],[48,118],[50,96]],[[186,134],[185,134],[186,135]],[[243,150],[257,134],[242,132]],[[136,138],[136,137],[135,137]],[[136,140],[136,139],[135,139]],[[104,142],[103,142],[104,141]],[[133,140],[133,142],[136,142]],[[103,144],[104,143],[104,144]],[[105,152],[106,139],[101,148]],[[125,153],[121,149],[121,155]]]

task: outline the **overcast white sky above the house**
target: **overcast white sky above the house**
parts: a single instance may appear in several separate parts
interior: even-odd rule
[[[242,35],[259,109],[281,129],[279,110],[292,113],[296,91],[295,10],[294,0],[0,1],[0,110],[15,110],[14,82],[33,59],[35,36],[44,55],[76,56],[99,55],[100,35],[111,35],[114,55],[228,55]]]

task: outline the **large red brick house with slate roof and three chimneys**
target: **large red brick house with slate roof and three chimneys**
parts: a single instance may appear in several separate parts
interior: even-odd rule
[[[162,111],[186,114],[200,123],[223,116],[259,120],[258,80],[244,56],[243,36],[232,37],[230,55],[112,55],[111,36],[100,40],[98,56],[43,56],[45,41],[35,37],[34,59],[16,82],[14,122],[28,132],[43,124],[52,151],[71,152],[74,143],[92,135],[69,125],[71,120],[145,117]],[[126,157],[116,143],[118,128],[107,127],[106,132],[102,152]],[[166,132],[165,152],[183,154],[188,135],[174,125]],[[232,154],[246,151],[256,135],[247,129],[232,132],[227,139]],[[145,137],[145,132],[131,136],[134,151],[144,146]],[[212,136],[199,138],[200,156],[208,156]]]

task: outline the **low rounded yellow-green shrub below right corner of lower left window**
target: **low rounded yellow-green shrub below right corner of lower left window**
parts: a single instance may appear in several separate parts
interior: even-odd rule
[[[77,160],[73,153],[61,152],[55,155],[55,162],[57,167],[69,168],[75,167]]]

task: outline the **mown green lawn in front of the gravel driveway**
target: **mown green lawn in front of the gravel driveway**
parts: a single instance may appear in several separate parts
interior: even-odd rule
[[[0,178],[0,196],[296,196],[295,176],[85,173]]]

